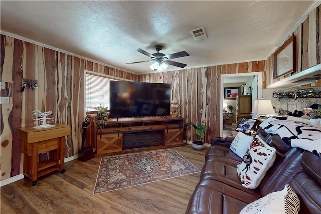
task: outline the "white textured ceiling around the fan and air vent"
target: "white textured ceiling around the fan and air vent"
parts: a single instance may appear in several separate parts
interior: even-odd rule
[[[185,68],[265,60],[320,1],[1,1],[1,32],[132,73],[164,54]],[[194,41],[190,30],[205,27]],[[169,66],[167,70],[180,68]]]

